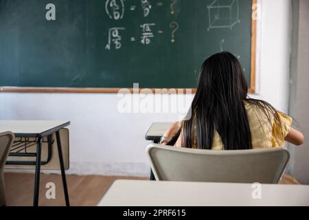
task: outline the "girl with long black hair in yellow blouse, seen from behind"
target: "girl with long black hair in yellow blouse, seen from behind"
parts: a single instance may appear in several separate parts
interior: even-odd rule
[[[238,59],[221,52],[203,63],[191,118],[175,122],[161,144],[212,150],[242,150],[304,143],[292,118],[271,104],[247,96]]]

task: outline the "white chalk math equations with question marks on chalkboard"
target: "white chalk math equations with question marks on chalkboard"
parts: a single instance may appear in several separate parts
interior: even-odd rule
[[[108,19],[113,21],[122,21],[128,17],[130,19],[130,14],[138,13],[141,17],[146,19],[146,22],[139,24],[139,32],[134,35],[128,34],[127,25],[119,25],[108,28],[108,36],[106,39],[106,50],[119,50],[122,48],[122,39],[125,36],[129,39],[130,43],[139,43],[141,45],[150,45],[152,39],[155,38],[157,34],[163,34],[163,30],[157,28],[157,23],[151,21],[150,15],[155,13],[154,10],[168,10],[171,15],[176,15],[176,3],[179,0],[171,1],[150,1],[150,0],[139,0],[139,1],[124,1],[124,0],[106,0],[105,1],[105,13]],[[147,21],[148,19],[148,21]],[[176,17],[175,17],[176,19]],[[118,24],[118,23],[117,23]],[[176,41],[175,35],[176,31],[179,30],[179,23],[173,19],[169,23],[170,28],[170,39],[171,43]],[[128,36],[130,35],[130,36]],[[132,35],[132,36],[131,36]]]

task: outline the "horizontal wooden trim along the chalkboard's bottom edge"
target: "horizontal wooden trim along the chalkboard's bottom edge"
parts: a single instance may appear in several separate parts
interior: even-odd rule
[[[8,92],[8,93],[69,93],[69,94],[195,94],[196,89],[119,89],[119,88],[111,88],[111,89],[100,89],[100,88],[47,88],[47,87],[0,87],[0,92]]]

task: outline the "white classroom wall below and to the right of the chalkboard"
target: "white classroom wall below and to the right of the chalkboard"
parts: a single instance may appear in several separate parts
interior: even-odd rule
[[[288,111],[290,0],[261,0],[257,91],[253,98]],[[137,82],[138,83],[138,82]],[[160,95],[158,95],[160,96]],[[168,95],[165,95],[168,96]],[[192,98],[181,95],[180,98]],[[117,94],[0,93],[1,120],[70,120],[69,173],[149,174],[144,135],[152,122],[178,120],[171,113],[119,113]],[[163,101],[163,105],[168,101]]]

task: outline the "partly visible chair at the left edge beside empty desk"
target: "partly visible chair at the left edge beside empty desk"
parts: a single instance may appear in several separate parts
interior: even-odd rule
[[[14,133],[4,132],[0,133],[0,206],[6,205],[5,186],[3,177],[3,168],[8,158],[8,153],[12,142],[14,141]]]

